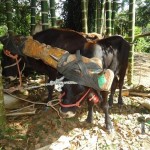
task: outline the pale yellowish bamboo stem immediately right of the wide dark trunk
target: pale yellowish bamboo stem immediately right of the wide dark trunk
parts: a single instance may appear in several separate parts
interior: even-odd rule
[[[88,32],[87,28],[87,3],[86,0],[81,1],[81,7],[82,7],[82,31],[84,33]]]

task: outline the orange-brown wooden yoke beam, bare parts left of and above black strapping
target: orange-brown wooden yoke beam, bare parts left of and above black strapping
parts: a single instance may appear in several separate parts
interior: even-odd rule
[[[41,59],[46,64],[57,69],[59,59],[68,52],[57,47],[51,47],[50,45],[45,45],[36,40],[33,40],[32,37],[29,37],[25,41],[23,53],[29,57],[33,57],[35,59]],[[67,63],[74,61],[75,59],[76,56],[74,54],[70,54],[67,58]],[[90,63],[90,62],[96,63],[99,65],[100,68],[102,68],[102,62],[98,58],[94,57],[92,59],[89,59],[87,57],[82,56],[82,61],[84,63]]]

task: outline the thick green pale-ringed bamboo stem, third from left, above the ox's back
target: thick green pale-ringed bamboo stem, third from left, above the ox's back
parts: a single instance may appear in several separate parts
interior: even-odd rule
[[[41,0],[41,13],[42,13],[42,29],[48,28],[48,4],[47,0]]]

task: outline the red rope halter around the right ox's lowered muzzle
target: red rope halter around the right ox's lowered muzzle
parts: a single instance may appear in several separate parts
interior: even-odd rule
[[[66,108],[68,108],[68,107],[74,107],[74,106],[76,106],[76,107],[81,107],[81,106],[80,106],[80,103],[84,100],[84,98],[88,95],[88,93],[89,93],[90,91],[91,91],[91,89],[89,88],[89,89],[84,93],[84,95],[83,95],[75,104],[62,104],[61,99],[62,99],[62,97],[65,95],[65,93],[63,93],[63,94],[59,97],[59,104],[60,104],[60,106],[66,107]]]

